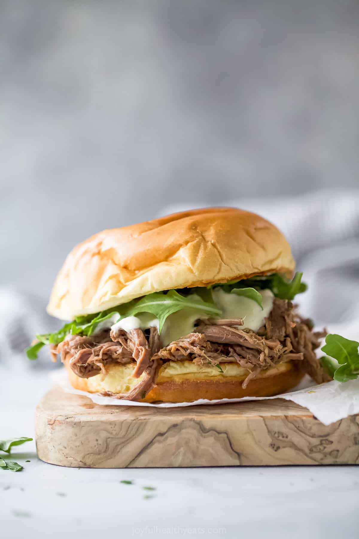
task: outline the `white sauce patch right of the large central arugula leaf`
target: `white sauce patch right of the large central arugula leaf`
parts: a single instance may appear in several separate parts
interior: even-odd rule
[[[222,309],[222,318],[243,318],[242,328],[248,328],[257,331],[263,326],[264,319],[269,315],[273,308],[274,295],[271,290],[265,289],[259,291],[262,296],[263,310],[258,303],[244,296],[237,294],[227,294],[220,287],[213,291],[213,299]]]

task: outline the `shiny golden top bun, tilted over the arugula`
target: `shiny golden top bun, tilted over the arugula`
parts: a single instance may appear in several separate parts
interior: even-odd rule
[[[279,230],[255,213],[207,208],[104,230],[71,251],[47,312],[61,320],[134,298],[274,272],[290,277],[294,260]]]

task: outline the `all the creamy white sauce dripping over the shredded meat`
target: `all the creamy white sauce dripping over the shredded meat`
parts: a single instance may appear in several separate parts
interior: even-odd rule
[[[259,307],[258,303],[249,298],[238,296],[236,294],[228,294],[224,292],[220,287],[213,290],[213,299],[215,303],[222,309],[221,318],[233,319],[243,318],[244,328],[249,328],[252,331],[257,331],[263,326],[264,319],[269,315],[273,307],[274,295],[270,290],[262,290],[260,292],[263,299],[263,310]],[[115,317],[117,316],[117,317]],[[115,313],[114,317],[108,320],[104,320],[98,324],[96,333],[99,333],[98,328],[111,327],[113,330],[124,329],[130,331],[131,329],[149,329],[152,326],[159,327],[157,317],[151,313],[142,313],[138,316],[128,316],[122,320],[118,320],[118,314]],[[115,318],[112,320],[112,318]],[[206,315],[203,315],[203,311],[196,311],[195,309],[183,309],[177,313],[173,313],[167,317],[164,326],[161,331],[161,342],[163,346],[167,346],[170,342],[177,340],[180,337],[184,337],[188,333],[195,331],[194,323],[198,319],[206,319]],[[115,323],[116,322],[116,323]],[[112,324],[112,325],[111,325]]]

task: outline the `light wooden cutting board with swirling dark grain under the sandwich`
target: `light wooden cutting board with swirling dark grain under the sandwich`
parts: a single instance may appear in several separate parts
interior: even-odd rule
[[[36,410],[36,443],[41,460],[73,467],[358,464],[359,416],[325,426],[283,399],[100,406],[54,388]]]

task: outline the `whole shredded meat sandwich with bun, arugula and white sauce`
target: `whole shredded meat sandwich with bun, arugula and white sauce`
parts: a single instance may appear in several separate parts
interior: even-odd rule
[[[147,403],[327,382],[334,370],[315,353],[326,332],[298,313],[294,268],[276,226],[234,208],[104,230],[68,255],[47,307],[65,324],[27,356],[50,345],[73,388]]]

